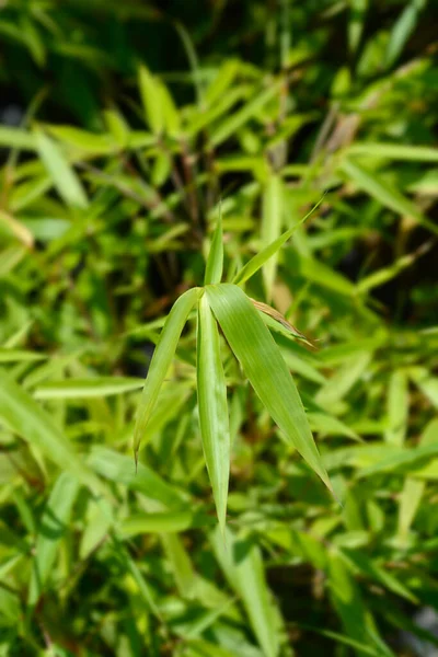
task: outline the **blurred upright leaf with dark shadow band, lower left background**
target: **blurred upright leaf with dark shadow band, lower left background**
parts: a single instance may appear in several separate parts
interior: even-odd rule
[[[70,520],[71,508],[79,492],[79,483],[70,474],[59,475],[44,510],[35,545],[28,603],[35,604],[50,576],[58,544]]]

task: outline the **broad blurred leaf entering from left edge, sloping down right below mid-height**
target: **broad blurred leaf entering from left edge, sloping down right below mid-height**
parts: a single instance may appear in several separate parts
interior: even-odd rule
[[[0,419],[59,468],[68,470],[85,485],[100,488],[100,482],[51,417],[4,372],[0,372]]]

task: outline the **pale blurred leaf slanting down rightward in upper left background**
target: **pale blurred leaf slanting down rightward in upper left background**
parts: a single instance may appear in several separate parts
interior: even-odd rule
[[[87,208],[89,201],[82,184],[59,147],[41,130],[35,138],[41,159],[61,198],[69,206]]]

